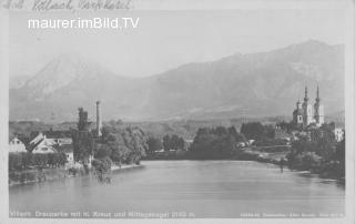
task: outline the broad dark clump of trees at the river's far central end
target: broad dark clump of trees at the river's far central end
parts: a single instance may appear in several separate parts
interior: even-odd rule
[[[202,128],[190,147],[192,159],[229,159],[237,151],[237,143],[246,139],[234,126]]]

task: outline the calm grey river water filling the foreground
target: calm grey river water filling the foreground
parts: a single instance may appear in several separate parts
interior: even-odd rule
[[[345,190],[335,181],[248,161],[143,161],[112,175],[11,186],[10,212],[70,217],[341,216]],[[252,213],[252,214],[251,214]],[[18,216],[18,215],[17,215]]]

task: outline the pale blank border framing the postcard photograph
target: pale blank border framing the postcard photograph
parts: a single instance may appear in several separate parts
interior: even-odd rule
[[[39,220],[39,218],[9,218],[9,202],[8,202],[8,113],[9,113],[9,95],[8,95],[8,12],[1,10],[0,14],[0,157],[1,169],[0,182],[1,192],[1,212],[0,223],[354,223],[354,1],[351,0],[136,0],[135,10],[190,10],[190,9],[347,9],[345,43],[345,121],[346,121],[346,216],[344,218],[195,218],[195,220]],[[3,181],[6,180],[6,181]]]

